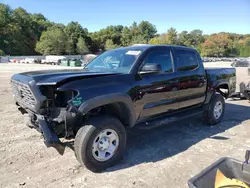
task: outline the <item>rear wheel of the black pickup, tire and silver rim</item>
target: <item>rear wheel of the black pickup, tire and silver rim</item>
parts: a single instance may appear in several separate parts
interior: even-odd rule
[[[212,96],[207,109],[205,109],[204,116],[205,121],[209,125],[215,125],[221,122],[225,112],[225,100],[219,93],[215,93]]]

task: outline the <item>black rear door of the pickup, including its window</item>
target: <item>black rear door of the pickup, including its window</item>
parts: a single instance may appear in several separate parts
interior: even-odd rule
[[[202,104],[206,97],[206,73],[199,54],[192,49],[175,48],[174,59],[179,75],[179,109]]]

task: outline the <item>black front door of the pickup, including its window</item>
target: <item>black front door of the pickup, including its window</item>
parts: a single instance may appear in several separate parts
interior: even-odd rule
[[[143,65],[159,64],[161,72],[140,75],[140,99],[136,101],[142,107],[140,120],[178,109],[179,79],[174,72],[171,48],[159,48],[151,51],[143,62]]]

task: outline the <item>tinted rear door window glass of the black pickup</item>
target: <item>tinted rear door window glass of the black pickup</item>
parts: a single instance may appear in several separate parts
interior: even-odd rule
[[[194,51],[175,50],[175,60],[178,71],[194,70],[199,66],[199,62]]]

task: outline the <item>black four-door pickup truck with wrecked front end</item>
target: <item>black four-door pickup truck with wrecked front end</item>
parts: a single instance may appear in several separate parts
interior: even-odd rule
[[[107,51],[81,70],[48,70],[11,78],[18,109],[47,147],[64,151],[74,138],[77,160],[101,171],[122,158],[127,130],[150,129],[204,114],[219,123],[235,90],[235,69],[204,69],[192,48],[131,46]]]

